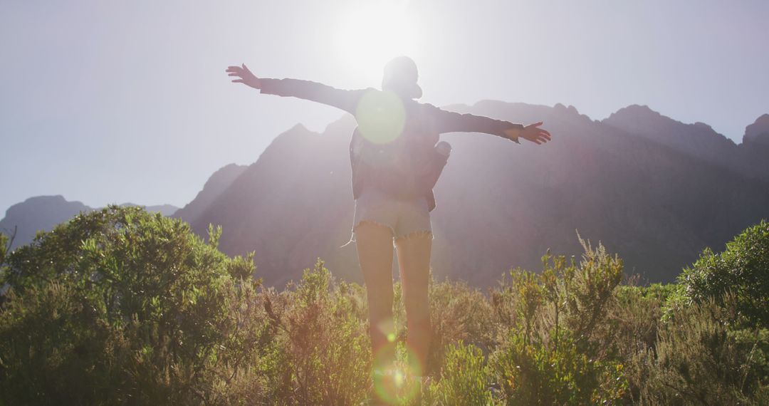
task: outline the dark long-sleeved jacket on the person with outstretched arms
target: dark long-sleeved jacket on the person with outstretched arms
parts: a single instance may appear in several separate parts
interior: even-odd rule
[[[505,130],[523,128],[509,121],[441,110],[375,88],[342,90],[298,79],[260,81],[261,93],[304,98],[355,115],[358,128],[350,143],[350,161],[356,199],[363,188],[375,185],[391,195],[425,196],[432,210],[432,188],[443,168],[439,163],[436,169],[434,162],[440,134],[482,132],[508,138]]]

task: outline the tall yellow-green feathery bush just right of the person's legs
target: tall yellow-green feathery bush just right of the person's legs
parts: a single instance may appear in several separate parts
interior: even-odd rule
[[[494,294],[496,314],[511,323],[489,361],[507,404],[615,404],[625,395],[624,367],[601,345],[622,261],[581,242],[579,264],[548,253],[541,275],[511,271]]]

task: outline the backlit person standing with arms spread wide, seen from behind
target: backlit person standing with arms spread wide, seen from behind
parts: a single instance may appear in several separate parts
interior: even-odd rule
[[[408,319],[407,346],[413,352],[411,371],[423,374],[431,334],[432,188],[451,151],[448,143],[439,142],[439,135],[482,132],[541,144],[551,139],[550,134],[539,128],[541,122],[524,126],[416,102],[422,90],[417,85],[417,66],[407,57],[394,58],[384,67],[381,90],[341,90],[298,79],[257,78],[245,65],[230,66],[227,72],[238,77],[232,82],[258,88],[261,93],[305,98],[355,115],[358,128],[350,143],[355,198],[352,231],[368,291],[375,384],[394,359],[393,245]]]

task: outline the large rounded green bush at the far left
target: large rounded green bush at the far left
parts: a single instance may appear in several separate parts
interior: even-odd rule
[[[258,341],[251,258],[178,220],[111,206],[8,255],[0,392],[10,404],[201,404]],[[246,277],[246,278],[244,278]],[[246,314],[243,314],[246,313]],[[238,346],[243,346],[240,348]]]

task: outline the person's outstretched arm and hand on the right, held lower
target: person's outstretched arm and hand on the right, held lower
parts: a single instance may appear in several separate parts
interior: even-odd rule
[[[495,120],[482,115],[459,114],[454,111],[446,111],[434,105],[425,105],[431,110],[431,115],[438,125],[438,132],[483,132],[498,135],[511,141],[518,142],[518,138],[524,138],[534,144],[542,144],[550,141],[551,135],[543,128],[542,121],[531,125],[522,125],[510,121]],[[520,144],[520,142],[518,142]]]

